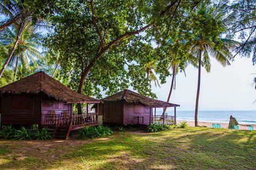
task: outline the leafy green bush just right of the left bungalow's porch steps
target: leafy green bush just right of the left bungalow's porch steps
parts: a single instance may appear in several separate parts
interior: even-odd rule
[[[113,131],[107,126],[87,126],[79,131],[79,138],[98,138],[113,134]]]

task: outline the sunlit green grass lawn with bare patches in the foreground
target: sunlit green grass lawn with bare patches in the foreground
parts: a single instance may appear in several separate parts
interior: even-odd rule
[[[187,127],[93,140],[0,140],[2,169],[255,169],[255,131]]]

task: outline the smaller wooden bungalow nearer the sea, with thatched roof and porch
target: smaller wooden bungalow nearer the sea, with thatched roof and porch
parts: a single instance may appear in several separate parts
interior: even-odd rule
[[[167,103],[123,90],[103,98],[99,104],[99,115],[103,123],[111,124],[176,124],[176,107],[178,104]],[[174,107],[174,115],[156,115],[157,107]]]

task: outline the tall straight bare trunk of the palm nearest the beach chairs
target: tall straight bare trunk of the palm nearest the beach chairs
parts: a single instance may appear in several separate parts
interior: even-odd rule
[[[197,115],[198,115],[198,103],[199,103],[200,84],[201,84],[201,58],[202,58],[202,51],[199,50],[196,109],[194,110],[194,126],[198,126]]]

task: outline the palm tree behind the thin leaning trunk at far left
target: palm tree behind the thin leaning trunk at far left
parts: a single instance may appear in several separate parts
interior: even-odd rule
[[[10,62],[12,65],[12,73],[15,68],[14,81],[16,80],[18,67],[24,67],[28,71],[31,71],[32,68],[30,65],[32,64],[32,66],[36,67],[37,60],[41,58],[41,53],[38,52],[38,47],[40,46],[38,38],[40,37],[40,33],[35,33],[35,27],[28,24],[26,29],[21,32],[20,40],[16,43],[18,33],[15,27],[7,28],[2,33],[0,40],[2,46],[8,51],[13,50],[13,46],[16,44]]]

